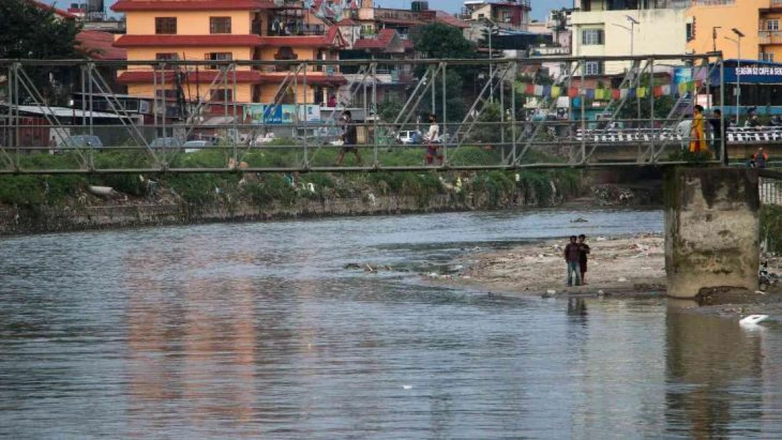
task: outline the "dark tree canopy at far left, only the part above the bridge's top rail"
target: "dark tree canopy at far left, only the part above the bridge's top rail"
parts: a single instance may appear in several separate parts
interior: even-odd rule
[[[83,58],[80,25],[26,0],[0,0],[0,59]]]

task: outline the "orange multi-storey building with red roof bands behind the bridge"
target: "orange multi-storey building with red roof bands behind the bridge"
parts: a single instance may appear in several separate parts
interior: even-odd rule
[[[345,44],[337,27],[328,29],[301,2],[289,0],[119,0],[112,9],[124,13],[127,34],[114,46],[127,50],[128,61],[198,60],[336,60]],[[310,66],[307,89],[303,74],[280,85],[289,67],[169,67],[165,75],[151,66],[129,66],[117,81],[130,95],[195,102],[322,102],[346,82],[339,70]],[[236,84],[234,84],[234,81]]]

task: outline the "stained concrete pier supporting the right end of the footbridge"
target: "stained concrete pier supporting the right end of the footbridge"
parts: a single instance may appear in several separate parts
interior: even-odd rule
[[[668,295],[701,288],[758,288],[759,195],[754,170],[669,169],[665,173]]]

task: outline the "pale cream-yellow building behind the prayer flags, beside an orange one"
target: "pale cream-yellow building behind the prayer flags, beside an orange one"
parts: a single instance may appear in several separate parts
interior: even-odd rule
[[[673,55],[687,50],[690,0],[581,0],[570,15],[576,56]],[[587,76],[617,76],[628,62],[590,62]]]

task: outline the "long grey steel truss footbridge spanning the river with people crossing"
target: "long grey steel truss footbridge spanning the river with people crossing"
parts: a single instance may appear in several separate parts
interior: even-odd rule
[[[539,71],[541,62],[558,63],[561,75],[544,76]],[[630,94],[612,94],[601,108],[601,120],[590,120],[587,106],[574,103],[587,100],[585,84],[590,78],[585,66],[591,62],[624,66],[619,89],[654,86],[662,71],[670,73],[672,66],[689,67],[693,77],[702,80],[687,93],[674,95],[676,102],[666,117],[655,118],[660,100],[650,87],[650,92],[638,99],[631,99]],[[413,69],[418,79],[407,86],[407,100],[400,103],[399,112],[389,120],[381,120],[375,116],[375,109],[383,106],[382,76],[400,65]],[[671,165],[680,163],[676,152],[690,140],[690,134],[682,133],[680,126],[691,117],[693,96],[708,94],[711,78],[721,78],[723,69],[719,53],[404,61],[0,60],[0,173],[287,173]],[[153,93],[145,97],[146,104],[143,99],[113,91],[111,84],[118,70],[146,72],[152,78]],[[239,78],[255,70],[276,72],[281,78],[265,107],[221,101],[217,99],[221,96],[211,93],[192,98],[183,92],[190,87],[188,81],[194,72],[210,71],[209,79],[195,87],[200,90],[206,83],[207,90],[230,90],[235,97]],[[313,84],[314,72],[339,74],[344,70],[357,73],[351,74],[348,84],[340,89],[336,106],[317,106],[311,102],[314,94],[302,92],[309,90],[307,84]],[[454,90],[450,82],[455,77],[474,84],[468,82]],[[518,84],[535,86],[543,81],[549,90],[553,87],[565,91],[563,96],[571,95],[566,119],[552,117],[558,109],[562,112],[561,98],[552,95],[537,96],[532,109],[523,106],[524,91]],[[723,81],[717,85],[724,91]],[[467,89],[473,93],[465,98]],[[68,96],[70,105],[56,106],[57,94]],[[723,96],[719,93],[720,100]],[[465,102],[465,108],[457,109],[458,102]],[[723,102],[714,104],[723,107]],[[149,108],[146,113],[145,106]],[[264,113],[277,106],[292,113],[286,116],[287,123]],[[321,110],[320,117],[304,116],[314,106]],[[170,108],[177,109],[175,117],[168,114]],[[337,166],[335,159],[345,148],[339,145],[338,134],[343,130],[340,121],[346,110],[357,119],[359,141],[354,148],[363,160],[358,163],[351,149],[344,166]],[[439,132],[445,134],[435,144],[432,163],[425,160],[427,141],[418,145],[396,141],[400,132],[429,131],[429,123],[421,120],[421,115],[429,113],[437,115]],[[274,138],[267,134],[270,132]],[[182,145],[203,138],[216,142]],[[726,141],[782,145],[782,131],[731,131],[729,139],[717,141],[712,147],[726,148]]]

